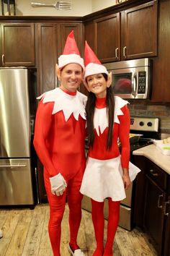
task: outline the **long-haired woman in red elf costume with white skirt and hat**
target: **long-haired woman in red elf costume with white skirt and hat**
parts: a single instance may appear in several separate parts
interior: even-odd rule
[[[89,90],[86,103],[89,157],[81,193],[91,197],[92,221],[97,242],[94,256],[112,256],[112,245],[120,217],[120,201],[130,187],[130,115],[128,101],[113,96],[112,73],[100,63],[89,45],[84,51],[84,84]],[[122,150],[117,145],[120,140]],[[131,165],[131,163],[130,163]],[[133,171],[133,177],[138,169]],[[109,218],[104,247],[104,199],[108,197]]]

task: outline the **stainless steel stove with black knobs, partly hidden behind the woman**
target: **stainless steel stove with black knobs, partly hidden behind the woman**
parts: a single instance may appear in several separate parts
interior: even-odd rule
[[[130,133],[137,134],[138,140],[130,141],[130,161],[133,163],[133,150],[143,148],[152,144],[152,139],[159,139],[159,119],[150,117],[133,116],[130,118]],[[138,136],[138,135],[143,136]],[[121,146],[120,146],[121,150]],[[126,198],[120,204],[120,222],[119,226],[128,231],[133,229],[133,211],[135,202],[135,180],[130,188],[126,190]],[[108,218],[107,199],[104,200],[104,218]],[[89,197],[84,196],[82,208],[91,211],[91,201]]]

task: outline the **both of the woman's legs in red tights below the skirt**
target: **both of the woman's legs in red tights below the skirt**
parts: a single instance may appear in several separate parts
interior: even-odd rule
[[[117,231],[120,218],[120,202],[113,202],[111,198],[109,203],[109,218],[107,223],[107,242],[104,247],[104,202],[91,200],[92,203],[92,221],[94,224],[94,233],[97,242],[97,249],[93,256],[112,256],[112,245]],[[104,253],[104,254],[103,254]]]

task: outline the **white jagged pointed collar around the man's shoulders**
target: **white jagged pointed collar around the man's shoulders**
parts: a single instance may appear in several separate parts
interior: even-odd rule
[[[86,95],[76,91],[76,95],[70,95],[61,88],[55,88],[38,97],[42,98],[42,103],[54,102],[52,114],[63,111],[64,118],[68,121],[71,114],[78,121],[79,115],[86,120]]]

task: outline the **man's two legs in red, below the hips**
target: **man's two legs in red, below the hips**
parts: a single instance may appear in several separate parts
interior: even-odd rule
[[[79,177],[78,177],[79,178]],[[67,199],[69,207],[69,226],[70,226],[70,245],[71,248],[78,249],[76,243],[77,234],[81,222],[81,200],[82,195],[79,192],[81,182],[79,179],[73,178],[69,180],[67,186]],[[61,256],[61,221],[66,205],[66,191],[61,196],[53,195],[50,191],[50,182],[48,176],[45,176],[45,189],[48,195],[50,205],[50,220],[48,223],[48,232],[50,236],[50,244],[53,249],[54,256]]]

